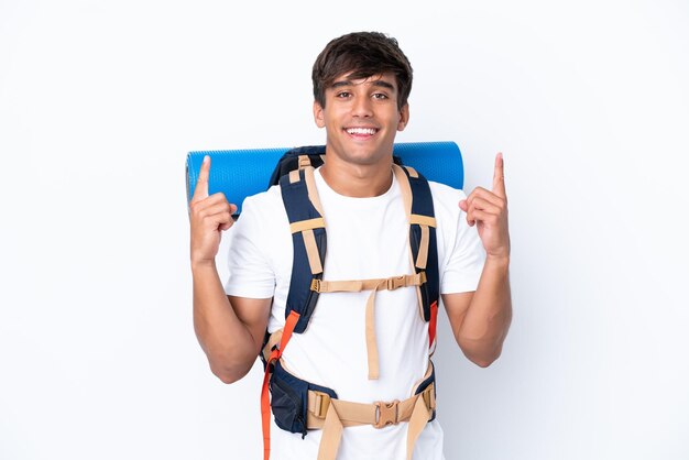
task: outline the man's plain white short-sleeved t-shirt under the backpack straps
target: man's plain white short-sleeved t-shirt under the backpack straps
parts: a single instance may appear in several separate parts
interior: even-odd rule
[[[408,227],[396,179],[383,195],[338,195],[316,171],[316,187],[326,221],[328,245],[324,280],[367,280],[413,274]],[[475,228],[467,224],[458,202],[463,191],[430,183],[437,222],[440,293],[475,291],[484,251]],[[228,295],[273,297],[269,331],[285,324],[293,243],[280,187],[249,197],[228,231]],[[405,399],[428,366],[428,324],[419,315],[416,289],[381,291],[375,298],[379,380],[368,379],[365,304],[370,292],[320,294],[304,333],[294,333],[283,360],[299,379],[332,388],[342,401],[373,403]],[[442,410],[442,394],[438,394]],[[406,459],[407,424],[375,429],[344,428],[338,460]],[[320,430],[300,434],[271,427],[272,460],[316,459]],[[441,460],[442,429],[429,423],[414,459]]]

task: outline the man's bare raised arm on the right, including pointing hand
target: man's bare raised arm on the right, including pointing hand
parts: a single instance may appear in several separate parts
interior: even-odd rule
[[[510,294],[510,231],[504,162],[495,157],[493,189],[477,187],[459,207],[470,226],[477,226],[485,249],[485,264],[475,293],[446,294],[447,310],[455,339],[462,352],[485,368],[502,352],[512,321]]]

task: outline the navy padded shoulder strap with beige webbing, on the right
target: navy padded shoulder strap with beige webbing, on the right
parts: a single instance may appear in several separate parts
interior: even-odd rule
[[[408,209],[409,249],[416,273],[426,272],[419,289],[424,320],[431,320],[431,309],[440,296],[436,218],[428,180],[409,166],[395,166],[395,175]],[[411,201],[411,202],[409,202]]]

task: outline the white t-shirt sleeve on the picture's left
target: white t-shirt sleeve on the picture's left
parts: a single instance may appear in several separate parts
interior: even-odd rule
[[[265,222],[261,205],[253,197],[242,205],[242,213],[228,230],[227,262],[229,275],[225,283],[227,295],[248,298],[270,298],[275,292],[275,273],[270,258],[260,243]]]

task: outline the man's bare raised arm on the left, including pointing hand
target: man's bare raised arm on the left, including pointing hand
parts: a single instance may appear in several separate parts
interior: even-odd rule
[[[214,374],[232,383],[247,375],[256,360],[271,299],[225,294],[216,255],[237,207],[223,194],[208,196],[209,173],[210,157],[206,156],[189,205],[194,329]]]

